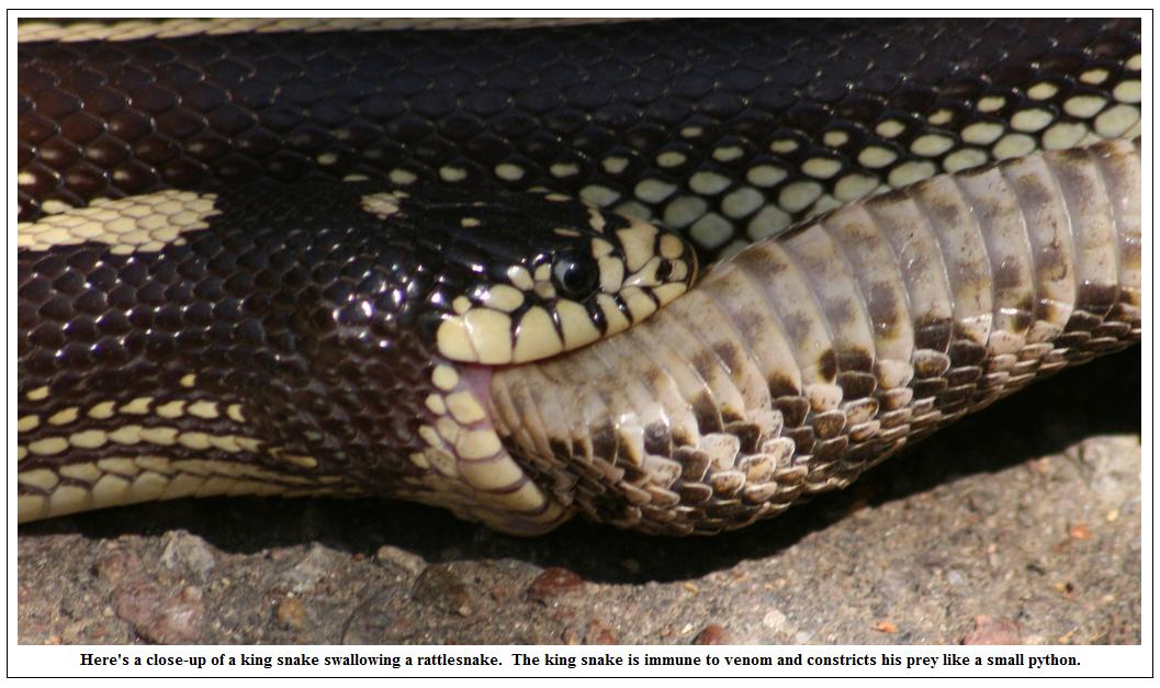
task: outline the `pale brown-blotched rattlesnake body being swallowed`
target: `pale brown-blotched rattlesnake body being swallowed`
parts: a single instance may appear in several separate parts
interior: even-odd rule
[[[1139,342],[1139,146],[836,210],[718,263],[619,336],[499,371],[493,412],[542,485],[623,528],[713,534],[844,487],[966,413]]]

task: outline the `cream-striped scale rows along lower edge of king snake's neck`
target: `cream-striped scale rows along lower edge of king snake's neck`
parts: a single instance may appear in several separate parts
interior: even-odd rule
[[[278,464],[310,470],[318,462],[269,447],[247,434],[248,421],[240,404],[200,396],[195,385],[196,376],[190,374],[181,381],[182,389],[190,390],[184,399],[107,399],[17,418],[16,479],[26,490],[17,498],[19,520],[181,497],[360,492],[339,476],[278,471]],[[49,389],[31,390],[26,398],[43,401],[49,398]],[[231,429],[209,433],[165,425],[182,418]],[[27,439],[38,428],[36,440]],[[138,454],[139,449],[145,452]],[[71,450],[96,452],[100,458],[59,465],[44,461]],[[255,463],[254,456],[263,456],[264,463]],[[36,468],[26,468],[31,465]]]

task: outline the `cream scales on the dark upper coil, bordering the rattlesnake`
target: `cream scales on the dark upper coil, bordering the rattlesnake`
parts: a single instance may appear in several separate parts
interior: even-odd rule
[[[1129,70],[1139,70],[1139,55],[1125,61]],[[1086,84],[1104,84],[1107,70],[1089,70],[1080,75]],[[1047,101],[1058,94],[1058,86],[1047,81],[1031,84],[1025,89],[1029,100]],[[731,178],[712,171],[696,171],[674,184],[662,179],[635,180],[632,198],[603,184],[589,184],[580,190],[586,202],[638,217],[643,220],[660,218],[667,227],[686,230],[698,246],[716,251],[734,237],[760,240],[788,229],[797,213],[817,216],[839,205],[858,201],[891,189],[898,189],[929,179],[943,172],[960,172],[978,167],[987,161],[1018,158],[1034,152],[1042,142],[1045,150],[1064,150],[1086,146],[1092,143],[1139,136],[1141,86],[1138,79],[1126,79],[1111,89],[1112,99],[1097,95],[1075,95],[1061,103],[1063,111],[1079,122],[1051,123],[1051,111],[1046,107],[1029,104],[1010,114],[1007,122],[976,121],[966,123],[957,133],[962,144],[950,136],[931,132],[916,137],[909,144],[909,152],[918,159],[898,161],[898,154],[882,145],[868,144],[861,150],[848,150],[849,135],[841,129],[822,133],[822,143],[841,151],[863,168],[879,171],[868,175],[865,171],[848,171],[839,174],[841,162],[838,157],[812,157],[800,164],[804,179],[778,188],[790,171],[782,166],[760,162],[744,169],[747,184],[734,184]],[[973,109],[984,115],[1002,110],[1007,96],[985,95],[973,103]],[[935,126],[950,124],[949,110],[936,110],[927,121]],[[886,120],[875,126],[875,133],[886,139],[902,136],[907,123]],[[703,136],[699,126],[686,126],[680,136],[696,140]],[[799,147],[793,139],[776,139],[769,152],[784,155]],[[711,152],[719,162],[732,162],[744,155],[733,145],[719,146]],[[941,158],[941,165],[938,164]],[[658,167],[673,171],[687,162],[687,157],[676,151],[658,153]],[[626,173],[629,160],[622,155],[609,155],[600,160],[610,175]],[[508,171],[510,174],[510,171]],[[507,176],[505,176],[507,179]],[[629,181],[629,180],[625,180]],[[767,189],[762,191],[762,189]],[[726,193],[727,190],[727,193]],[[768,201],[767,201],[768,198]],[[718,211],[719,209],[719,211]],[[744,225],[740,232],[738,225]],[[734,241],[725,253],[732,253],[745,245]]]

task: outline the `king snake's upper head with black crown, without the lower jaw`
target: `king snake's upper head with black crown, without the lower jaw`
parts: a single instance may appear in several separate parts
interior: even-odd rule
[[[679,234],[558,194],[441,200],[415,212],[459,229],[443,258],[470,270],[436,329],[451,361],[524,363],[580,348],[644,320],[696,277]]]

